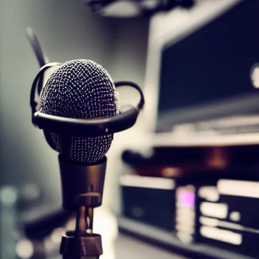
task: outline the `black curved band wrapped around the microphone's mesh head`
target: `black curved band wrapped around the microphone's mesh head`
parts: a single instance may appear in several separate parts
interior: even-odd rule
[[[121,132],[132,127],[138,117],[139,111],[144,106],[144,95],[138,84],[130,81],[118,81],[114,85],[116,88],[129,86],[136,89],[140,93],[140,101],[137,108],[129,103],[120,103],[121,112],[117,115],[102,118],[78,119],[53,116],[36,111],[38,105],[35,101],[35,92],[37,82],[40,77],[43,77],[44,72],[55,65],[61,63],[49,63],[41,67],[36,75],[30,93],[30,106],[32,112],[32,123],[44,131],[58,133],[73,137],[98,137]]]

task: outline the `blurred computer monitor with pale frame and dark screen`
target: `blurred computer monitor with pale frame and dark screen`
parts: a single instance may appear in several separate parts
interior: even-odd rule
[[[258,114],[259,90],[251,82],[258,24],[258,0],[199,0],[190,10],[156,15],[145,81],[150,132]]]

